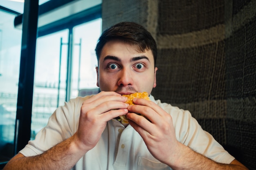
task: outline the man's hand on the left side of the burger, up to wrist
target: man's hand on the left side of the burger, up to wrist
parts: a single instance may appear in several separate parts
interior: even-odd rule
[[[126,100],[116,92],[100,92],[83,102],[76,132],[83,150],[88,151],[98,143],[109,120],[128,113]]]

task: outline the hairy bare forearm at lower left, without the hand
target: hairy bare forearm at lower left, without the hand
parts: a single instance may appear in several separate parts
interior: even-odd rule
[[[27,169],[71,169],[87,152],[79,148],[76,136],[57,144],[44,153],[32,157],[18,157],[11,159],[4,170]]]

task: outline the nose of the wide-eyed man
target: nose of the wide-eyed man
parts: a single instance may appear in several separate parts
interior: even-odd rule
[[[132,71],[127,68],[120,70],[117,84],[118,86],[133,85]]]

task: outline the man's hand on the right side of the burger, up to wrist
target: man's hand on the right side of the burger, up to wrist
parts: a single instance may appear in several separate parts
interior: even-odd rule
[[[126,115],[130,125],[141,135],[150,153],[159,161],[169,164],[175,161],[175,154],[179,153],[180,143],[175,137],[173,120],[170,114],[152,101],[134,99],[135,105],[128,107]],[[139,116],[135,113],[140,113]]]

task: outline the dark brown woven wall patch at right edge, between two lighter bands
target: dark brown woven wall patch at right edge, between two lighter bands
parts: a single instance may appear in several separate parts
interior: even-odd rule
[[[227,97],[256,96],[256,17],[226,41]]]

